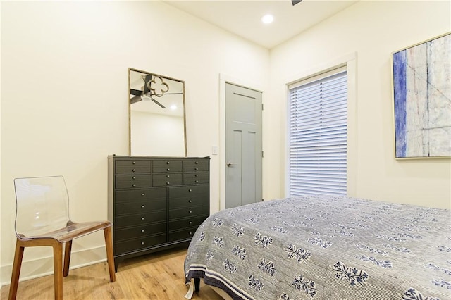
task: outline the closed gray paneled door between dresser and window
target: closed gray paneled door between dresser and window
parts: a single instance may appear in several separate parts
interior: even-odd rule
[[[226,208],[261,201],[261,92],[226,83]]]

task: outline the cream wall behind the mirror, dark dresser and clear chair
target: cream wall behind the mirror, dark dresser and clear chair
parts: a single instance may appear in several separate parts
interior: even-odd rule
[[[13,178],[64,175],[74,220],[106,219],[107,159],[128,154],[128,68],[185,80],[187,155],[218,145],[218,75],[268,85],[269,52],[159,1],[1,3],[1,279],[11,279]],[[218,210],[211,156],[211,211]],[[104,259],[103,235],[71,265]],[[21,277],[51,273],[26,249]]]

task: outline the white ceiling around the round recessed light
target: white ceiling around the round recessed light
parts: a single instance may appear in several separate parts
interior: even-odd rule
[[[163,0],[213,25],[233,32],[267,49],[271,49],[300,32],[320,23],[358,0]],[[274,16],[271,24],[261,22],[267,13]]]

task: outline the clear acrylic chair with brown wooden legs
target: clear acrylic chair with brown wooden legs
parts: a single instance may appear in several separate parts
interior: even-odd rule
[[[55,299],[63,299],[63,276],[69,274],[72,240],[104,230],[110,281],[116,281],[109,221],[75,223],[69,218],[69,199],[62,176],[28,177],[14,180],[16,189],[16,254],[9,299],[16,299],[20,266],[25,247],[51,246],[54,251]],[[64,246],[64,265],[63,261]]]

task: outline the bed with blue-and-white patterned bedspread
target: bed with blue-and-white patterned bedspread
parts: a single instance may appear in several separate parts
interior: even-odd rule
[[[451,299],[451,211],[344,196],[229,208],[192,237],[185,282],[199,278],[233,299]]]

